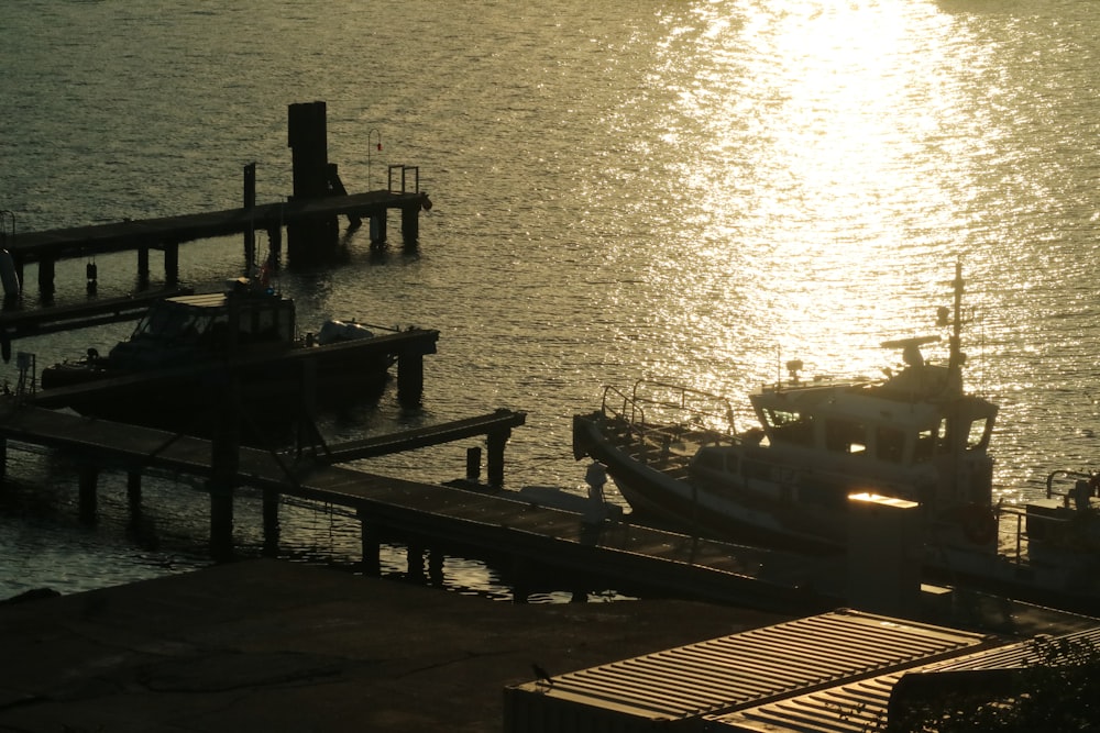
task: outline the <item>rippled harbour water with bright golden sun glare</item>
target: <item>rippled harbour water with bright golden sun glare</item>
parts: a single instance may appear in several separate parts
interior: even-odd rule
[[[349,189],[419,166],[436,207],[418,256],[395,243],[372,257],[359,232],[345,265],[282,281],[302,323],[441,332],[422,413],[387,395],[330,419],[334,438],[508,407],[528,413],[509,485],[580,487],[570,418],[604,384],[663,377],[736,398],[795,357],[807,374],[877,374],[899,360],[880,341],[936,333],[961,258],[970,384],[1002,406],[1003,495],[1100,457],[1092,2],[9,5],[0,208],[18,231],[234,207],[250,162],[260,200],[280,200],[294,102],[328,102]],[[235,275],[241,249],[187,245],[184,278]],[[84,264],[58,266],[58,300],[82,298]],[[97,265],[101,295],[133,287],[131,256]],[[128,332],[18,347],[46,364]],[[466,447],[363,468],[446,480]],[[124,477],[108,476],[88,530],[64,457],[16,452],[9,475],[0,597],[205,562],[198,491],[148,481],[135,531]],[[253,512],[239,502],[245,546]],[[343,518],[286,519],[296,556],[358,555]],[[493,588],[492,570],[454,563],[460,585]]]

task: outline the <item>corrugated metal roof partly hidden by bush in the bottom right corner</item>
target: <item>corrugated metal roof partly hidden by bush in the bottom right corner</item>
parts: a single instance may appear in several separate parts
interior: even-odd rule
[[[1086,630],[1058,638],[1100,645],[1100,629]],[[743,733],[864,733],[881,730],[890,693],[910,671],[956,671],[964,669],[1011,669],[1035,659],[1032,642],[1015,642],[993,649],[953,657],[870,679],[838,685],[781,701],[715,717],[706,730]]]

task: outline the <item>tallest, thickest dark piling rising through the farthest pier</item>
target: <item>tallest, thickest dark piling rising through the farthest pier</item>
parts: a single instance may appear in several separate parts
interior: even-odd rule
[[[324,102],[290,104],[287,144],[294,166],[293,201],[323,198],[330,191],[328,126]],[[329,258],[340,230],[336,216],[318,216],[287,226],[289,264],[309,265]]]

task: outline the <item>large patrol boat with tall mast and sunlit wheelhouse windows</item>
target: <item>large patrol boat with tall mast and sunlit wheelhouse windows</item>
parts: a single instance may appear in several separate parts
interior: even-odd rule
[[[959,266],[938,314],[946,364],[921,353],[938,336],[883,343],[906,366],[881,379],[806,381],[793,360],[749,396],[745,431],[721,396],[605,387],[600,410],[574,415],[574,456],[604,464],[636,518],[739,543],[845,552],[857,502],[904,506],[930,578],[1100,610],[1100,478],[1060,471],[1045,500],[993,501],[998,408],[964,389],[961,293]]]

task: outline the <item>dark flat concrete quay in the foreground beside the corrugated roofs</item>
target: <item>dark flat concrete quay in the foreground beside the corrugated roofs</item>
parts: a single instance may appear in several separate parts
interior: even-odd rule
[[[513,604],[278,560],[0,603],[0,731],[499,731],[505,687],[785,620]]]

